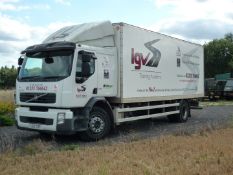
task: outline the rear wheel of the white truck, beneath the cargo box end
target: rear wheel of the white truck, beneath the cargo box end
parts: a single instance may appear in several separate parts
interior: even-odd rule
[[[169,121],[179,122],[179,123],[186,122],[189,117],[190,117],[190,106],[188,102],[184,100],[180,102],[180,113],[167,116]]]

